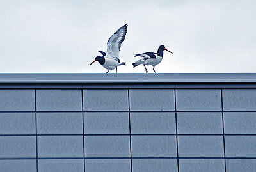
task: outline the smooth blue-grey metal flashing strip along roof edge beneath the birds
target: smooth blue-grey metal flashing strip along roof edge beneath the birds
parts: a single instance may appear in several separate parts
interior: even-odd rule
[[[0,74],[0,84],[256,83],[256,73]]]

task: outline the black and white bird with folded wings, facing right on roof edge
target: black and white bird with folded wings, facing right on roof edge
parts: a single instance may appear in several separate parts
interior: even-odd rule
[[[160,47],[158,48],[156,53],[155,52],[145,52],[145,53],[141,53],[141,54],[135,54],[134,57],[140,56],[143,59],[140,59],[140,60],[132,63],[133,67],[135,68],[136,66],[143,64],[143,66],[145,67],[146,73],[148,73],[148,70],[145,65],[147,65],[147,66],[151,65],[151,66],[153,66],[153,70],[156,73],[155,66],[162,61],[163,55],[164,55],[164,50],[168,51],[168,49],[166,49],[164,47],[164,45],[160,45]],[[168,52],[171,52],[171,51],[168,51]]]

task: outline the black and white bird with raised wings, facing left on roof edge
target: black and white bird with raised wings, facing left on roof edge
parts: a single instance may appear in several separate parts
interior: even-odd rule
[[[114,70],[116,68],[117,73],[117,66],[119,65],[125,65],[125,62],[120,62],[119,59],[119,52],[122,42],[124,41],[124,38],[127,33],[127,26],[128,24],[125,24],[124,26],[120,27],[108,40],[108,49],[107,53],[103,51],[99,51],[102,56],[97,56],[95,61],[98,61],[100,65],[102,65],[104,68],[108,69],[106,73],[109,72],[109,70]],[[90,65],[92,65],[92,63]]]

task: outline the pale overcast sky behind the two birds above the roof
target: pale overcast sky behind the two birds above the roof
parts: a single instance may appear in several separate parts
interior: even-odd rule
[[[125,23],[119,73],[145,72],[134,54],[162,44],[159,73],[256,72],[254,0],[0,0],[0,72],[106,72],[89,64]]]

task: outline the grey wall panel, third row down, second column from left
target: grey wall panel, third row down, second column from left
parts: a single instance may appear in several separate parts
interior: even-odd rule
[[[38,136],[38,157],[83,157],[83,136]]]

